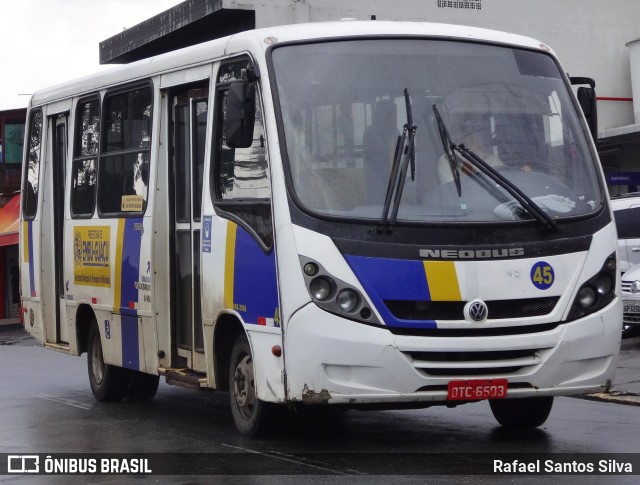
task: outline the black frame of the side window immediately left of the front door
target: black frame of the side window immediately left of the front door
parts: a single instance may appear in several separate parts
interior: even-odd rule
[[[124,150],[114,150],[114,151],[105,151],[105,147],[106,147],[106,143],[104,143],[104,137],[107,136],[107,120],[106,120],[106,107],[107,107],[107,103],[109,101],[110,98],[114,97],[114,96],[118,96],[120,94],[124,94],[124,93],[131,93],[133,91],[136,90],[141,90],[141,89],[149,89],[150,91],[150,116],[149,116],[149,143],[146,149],[140,149],[138,148],[125,148]],[[154,105],[154,100],[155,100],[155,86],[153,84],[153,81],[151,79],[145,79],[143,81],[139,81],[139,82],[135,82],[135,83],[128,83],[128,84],[124,84],[121,86],[116,86],[114,88],[108,89],[103,97],[102,97],[102,102],[100,104],[100,143],[99,143],[99,148],[98,148],[98,164],[96,167],[96,211],[98,213],[98,217],[100,219],[128,219],[128,218],[139,218],[139,217],[144,217],[144,215],[147,212],[147,208],[149,207],[149,198],[150,198],[150,194],[151,194],[151,187],[150,187],[150,182],[151,182],[151,164],[152,164],[152,157],[151,157],[151,152],[152,152],[152,147],[153,147],[153,131],[154,131],[154,115],[155,115],[155,105]],[[148,160],[149,160],[149,173],[148,173],[148,181],[147,181],[147,199],[144,201],[144,206],[143,206],[143,210],[142,211],[115,211],[115,212],[105,212],[101,209],[100,207],[100,188],[101,188],[101,182],[104,183],[102,181],[102,167],[104,162],[104,159],[107,157],[113,157],[113,156],[126,156],[126,155],[131,155],[134,153],[147,153],[148,154]],[[95,213],[95,211],[94,211]]]

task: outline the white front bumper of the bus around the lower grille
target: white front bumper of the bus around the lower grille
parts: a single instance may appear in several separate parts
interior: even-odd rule
[[[285,330],[287,399],[442,403],[451,380],[507,378],[507,397],[589,394],[613,380],[622,303],[552,330],[490,337],[394,335],[314,304]]]

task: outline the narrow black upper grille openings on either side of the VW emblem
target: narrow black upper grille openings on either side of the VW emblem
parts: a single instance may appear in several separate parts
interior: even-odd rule
[[[548,315],[559,297],[493,300],[485,302],[489,320]],[[400,320],[464,320],[465,301],[385,300],[391,314]]]

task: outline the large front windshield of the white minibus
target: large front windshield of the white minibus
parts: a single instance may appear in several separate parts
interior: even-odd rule
[[[399,185],[398,223],[534,220],[525,199],[562,222],[603,203],[576,105],[543,52],[366,39],[278,47],[272,63],[290,189],[307,212],[380,221]],[[443,130],[511,188],[451,153]],[[403,152],[411,169],[394,176]]]

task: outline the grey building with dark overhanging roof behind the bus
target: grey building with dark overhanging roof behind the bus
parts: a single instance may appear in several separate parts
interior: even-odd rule
[[[596,82],[597,143],[610,192],[640,185],[640,102],[634,107],[633,97],[640,55],[637,69],[630,61],[640,39],[637,0],[405,0],[401,7],[388,0],[186,0],[101,42],[100,62],[132,62],[252,28],[343,18],[469,25],[551,46],[569,75]]]

